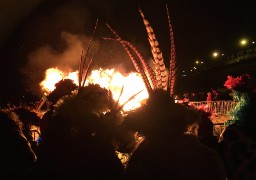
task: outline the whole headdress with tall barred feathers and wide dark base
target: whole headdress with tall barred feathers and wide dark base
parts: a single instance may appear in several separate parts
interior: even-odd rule
[[[119,41],[128,53],[135,70],[141,74],[149,93],[149,99],[145,105],[128,113],[125,121],[126,125],[132,130],[139,131],[146,136],[161,136],[162,138],[170,137],[170,134],[183,134],[186,132],[189,125],[200,120],[200,116],[195,109],[186,107],[183,104],[176,104],[173,99],[177,64],[173,29],[167,5],[166,11],[170,32],[168,75],[159,42],[153,28],[141,9],[139,9],[139,13],[147,31],[154,69],[151,69],[136,47],[123,40],[117,32],[107,24],[107,27],[115,35],[117,41]]]

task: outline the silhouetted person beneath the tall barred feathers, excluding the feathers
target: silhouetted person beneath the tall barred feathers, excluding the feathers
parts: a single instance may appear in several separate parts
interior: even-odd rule
[[[125,122],[145,139],[131,155],[124,179],[226,179],[218,153],[186,133],[200,122],[200,114],[175,103],[164,90],[152,92],[146,105],[128,113]]]

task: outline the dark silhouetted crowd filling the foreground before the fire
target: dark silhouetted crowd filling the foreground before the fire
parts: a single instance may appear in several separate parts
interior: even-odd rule
[[[175,103],[154,90],[141,107],[123,112],[97,84],[59,81],[45,109],[0,110],[0,163],[4,179],[256,179],[256,81],[228,76],[239,101],[233,124],[213,134],[211,113]],[[37,139],[32,127],[38,128]],[[124,163],[118,153],[129,154]]]

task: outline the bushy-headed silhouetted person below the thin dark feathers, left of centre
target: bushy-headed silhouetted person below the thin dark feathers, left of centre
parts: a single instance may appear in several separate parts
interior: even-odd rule
[[[80,87],[61,98],[54,105],[50,130],[41,142],[37,176],[121,178],[124,166],[113,145],[120,133],[121,116],[111,113],[114,104],[111,92],[98,84]]]

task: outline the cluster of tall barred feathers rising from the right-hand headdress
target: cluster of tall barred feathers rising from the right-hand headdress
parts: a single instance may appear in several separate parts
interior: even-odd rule
[[[166,5],[169,30],[170,30],[170,64],[169,64],[169,74],[167,75],[167,68],[165,65],[165,60],[163,57],[163,53],[160,49],[159,42],[156,38],[153,28],[151,27],[149,21],[146,19],[142,10],[139,9],[139,13],[142,17],[143,23],[145,25],[148,41],[151,47],[151,53],[153,55],[154,69],[152,69],[148,62],[145,61],[145,58],[141,55],[141,53],[133,46],[130,42],[123,40],[116,31],[114,31],[109,24],[107,27],[111,30],[111,32],[115,35],[116,40],[120,42],[125,51],[128,53],[135,70],[141,74],[141,77],[145,83],[145,86],[148,90],[148,93],[152,93],[157,89],[164,90],[169,96],[173,96],[174,94],[174,85],[175,85],[175,77],[177,73],[177,65],[176,65],[176,52],[175,52],[175,44],[174,44],[174,36],[173,30],[170,20],[170,15],[168,11],[168,7]],[[137,58],[136,58],[136,56]]]

